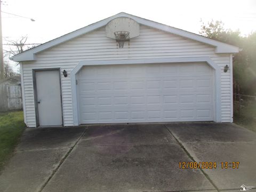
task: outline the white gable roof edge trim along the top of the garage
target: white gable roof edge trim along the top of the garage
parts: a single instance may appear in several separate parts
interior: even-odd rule
[[[152,28],[156,28],[162,31],[165,31],[167,33],[172,33],[175,35],[179,35],[185,38],[189,38],[189,39],[193,39],[195,41],[198,42],[202,42],[205,44],[209,44],[215,47],[215,53],[237,53],[239,52],[239,48],[233,45],[229,45],[226,43],[222,43],[219,41],[215,41],[211,38],[207,38],[201,35],[197,35],[194,33],[190,33],[188,31],[182,30],[182,29],[178,29],[178,28],[174,28],[174,27],[170,27],[167,25],[163,25],[161,23],[155,22],[155,21],[150,21],[147,19],[143,19],[131,14],[127,14],[124,12],[118,13],[116,15],[113,15],[112,17],[109,17],[107,19],[103,19],[101,21],[95,22],[89,26],[83,27],[81,29],[75,30],[71,33],[68,33],[66,35],[63,35],[61,37],[55,38],[52,41],[46,42],[42,45],[36,46],[32,49],[29,49],[25,52],[19,53],[17,55],[14,55],[12,58],[10,58],[13,61],[31,61],[31,60],[36,60],[36,53],[44,51],[46,49],[49,49],[50,47],[53,47],[55,45],[58,45],[60,43],[69,41],[70,39],[73,39],[75,37],[84,35],[86,33],[89,33],[95,29],[98,29],[100,27],[106,26],[107,23],[115,18],[118,17],[127,17],[127,18],[131,18],[135,21],[137,21],[138,23],[140,23],[141,25],[145,25],[148,27],[152,27]]]

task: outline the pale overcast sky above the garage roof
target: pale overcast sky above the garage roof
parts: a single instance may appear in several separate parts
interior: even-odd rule
[[[256,31],[255,0],[2,0],[3,37],[18,39],[28,35],[29,43],[44,43],[78,28],[126,12],[193,33],[205,23],[222,20],[226,28],[242,35]]]

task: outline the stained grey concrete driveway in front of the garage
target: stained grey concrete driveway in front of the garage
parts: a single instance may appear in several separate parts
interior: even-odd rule
[[[26,129],[0,191],[240,191],[256,187],[255,152],[256,134],[235,124]],[[179,168],[193,161],[217,167]]]

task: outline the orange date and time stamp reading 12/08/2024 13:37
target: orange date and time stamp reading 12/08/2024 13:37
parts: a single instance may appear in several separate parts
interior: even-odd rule
[[[238,169],[240,162],[220,162],[221,169]],[[180,169],[216,169],[217,162],[179,162]]]

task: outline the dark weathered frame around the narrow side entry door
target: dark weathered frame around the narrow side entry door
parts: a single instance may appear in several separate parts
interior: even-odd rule
[[[38,103],[37,103],[37,86],[36,86],[36,72],[38,71],[50,71],[57,70],[59,72],[59,80],[60,80],[60,103],[61,103],[61,126],[64,125],[63,122],[63,103],[62,103],[62,89],[61,89],[61,75],[60,68],[44,68],[44,69],[32,69],[33,74],[33,89],[34,89],[34,102],[35,102],[35,114],[36,114],[36,127],[39,127],[39,113],[38,113]],[[51,125],[49,125],[51,126]]]

